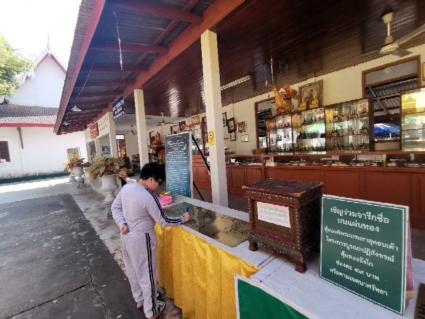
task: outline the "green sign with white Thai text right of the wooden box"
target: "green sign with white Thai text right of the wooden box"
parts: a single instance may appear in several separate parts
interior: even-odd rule
[[[320,277],[403,315],[408,209],[323,195]]]

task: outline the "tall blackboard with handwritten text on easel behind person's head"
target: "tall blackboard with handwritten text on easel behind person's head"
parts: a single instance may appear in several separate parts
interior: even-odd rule
[[[183,132],[165,137],[166,190],[192,197],[192,136]]]

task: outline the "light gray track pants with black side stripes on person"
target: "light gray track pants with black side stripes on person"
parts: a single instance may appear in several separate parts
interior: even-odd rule
[[[155,231],[121,235],[126,274],[132,287],[133,297],[143,304],[146,318],[157,314],[157,248]]]

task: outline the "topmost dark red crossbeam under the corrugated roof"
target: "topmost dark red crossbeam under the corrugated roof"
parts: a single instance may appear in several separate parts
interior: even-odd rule
[[[109,0],[108,3],[112,3],[112,5],[117,8],[122,8],[129,11],[151,14],[163,18],[180,20],[198,25],[202,23],[202,15],[185,12],[179,9],[167,7],[165,5],[158,5],[138,0]]]

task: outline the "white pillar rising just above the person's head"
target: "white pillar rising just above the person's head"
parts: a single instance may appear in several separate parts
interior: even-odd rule
[[[149,162],[149,156],[147,155],[146,116],[144,114],[144,100],[142,90],[135,90],[135,107],[140,165],[143,167],[144,164]]]

